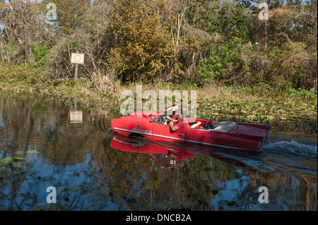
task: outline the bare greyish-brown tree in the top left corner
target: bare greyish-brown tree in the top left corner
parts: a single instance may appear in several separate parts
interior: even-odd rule
[[[47,31],[45,20],[39,11],[39,5],[30,0],[11,0],[1,2],[1,58],[7,61],[23,56],[24,63],[32,55],[32,46],[42,40]],[[14,52],[14,54],[13,54]]]

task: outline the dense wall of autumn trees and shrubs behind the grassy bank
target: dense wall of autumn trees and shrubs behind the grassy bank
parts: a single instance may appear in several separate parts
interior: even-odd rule
[[[317,88],[317,0],[1,0],[0,29],[1,71],[40,68],[54,82],[73,78],[78,51],[79,77],[96,85]]]

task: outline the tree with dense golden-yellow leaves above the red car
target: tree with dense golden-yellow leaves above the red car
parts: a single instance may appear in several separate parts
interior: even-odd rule
[[[169,31],[161,23],[165,3],[125,0],[116,4],[110,20],[110,66],[124,81],[155,80],[175,53]]]

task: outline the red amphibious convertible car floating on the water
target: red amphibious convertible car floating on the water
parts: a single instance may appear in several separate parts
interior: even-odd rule
[[[225,147],[235,150],[257,151],[266,145],[271,125],[235,121],[209,121],[186,118],[189,126],[173,130],[168,122],[177,121],[178,104],[165,107],[161,113],[134,112],[112,120],[112,130],[125,135],[141,135],[151,140],[185,142],[194,145]]]

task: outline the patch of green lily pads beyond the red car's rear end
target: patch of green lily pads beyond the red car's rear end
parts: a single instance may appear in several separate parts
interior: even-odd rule
[[[267,101],[249,101],[242,99],[240,102],[232,100],[223,100],[217,104],[199,99],[197,101],[199,116],[208,118],[211,110],[214,108],[213,120],[230,119],[237,121],[239,109],[242,109],[240,121],[272,123],[273,121],[285,122],[317,122],[317,104],[310,105],[298,102]]]

